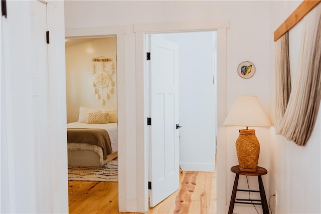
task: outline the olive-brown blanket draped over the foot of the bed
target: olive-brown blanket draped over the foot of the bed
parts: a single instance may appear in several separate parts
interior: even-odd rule
[[[68,143],[88,143],[102,147],[104,160],[112,153],[108,132],[104,129],[67,128]]]

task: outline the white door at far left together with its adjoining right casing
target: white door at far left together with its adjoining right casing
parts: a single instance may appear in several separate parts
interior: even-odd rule
[[[44,3],[1,17],[1,213],[68,213],[64,3]]]

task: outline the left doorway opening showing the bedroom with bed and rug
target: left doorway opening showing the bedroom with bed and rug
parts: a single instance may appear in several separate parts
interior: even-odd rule
[[[113,189],[118,197],[116,52],[116,36],[65,40],[67,128],[77,129],[77,131],[78,129],[105,129],[107,138],[110,140],[111,152],[105,154],[108,148],[102,149],[93,142],[70,143],[72,135],[68,132],[68,175],[69,183],[72,182],[69,185],[69,196],[74,197],[72,194],[81,189],[78,186],[79,182],[75,181],[80,178],[81,186],[87,186],[90,190],[84,192],[83,197],[77,197],[77,200],[83,200],[85,205],[88,198],[96,197],[97,192],[104,191],[108,195],[109,192],[105,189]],[[104,120],[102,116],[105,113],[108,113],[109,117],[107,124],[105,124],[106,121],[100,121],[100,119]],[[97,172],[97,169],[101,172]],[[92,170],[92,175],[91,172],[88,173],[89,170]],[[74,177],[72,177],[73,174]],[[108,176],[105,176],[106,174]],[[77,203],[77,201],[70,202]],[[118,199],[113,202],[116,202],[114,205],[118,207]],[[81,208],[78,204],[77,209],[74,210],[71,203],[69,206],[71,212],[77,212]]]

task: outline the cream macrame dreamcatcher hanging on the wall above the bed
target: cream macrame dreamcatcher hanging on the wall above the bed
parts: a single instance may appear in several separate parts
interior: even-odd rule
[[[112,60],[106,57],[98,57],[92,59],[92,74],[94,80],[92,85],[94,93],[101,105],[105,105],[105,99],[109,100],[114,93],[115,81],[113,75],[115,74]]]

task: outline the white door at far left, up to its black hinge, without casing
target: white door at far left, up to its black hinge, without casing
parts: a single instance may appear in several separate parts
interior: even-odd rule
[[[1,18],[1,152],[6,154],[1,160],[1,173],[6,172],[1,212],[51,213],[47,6],[7,1],[7,12],[7,19]]]

